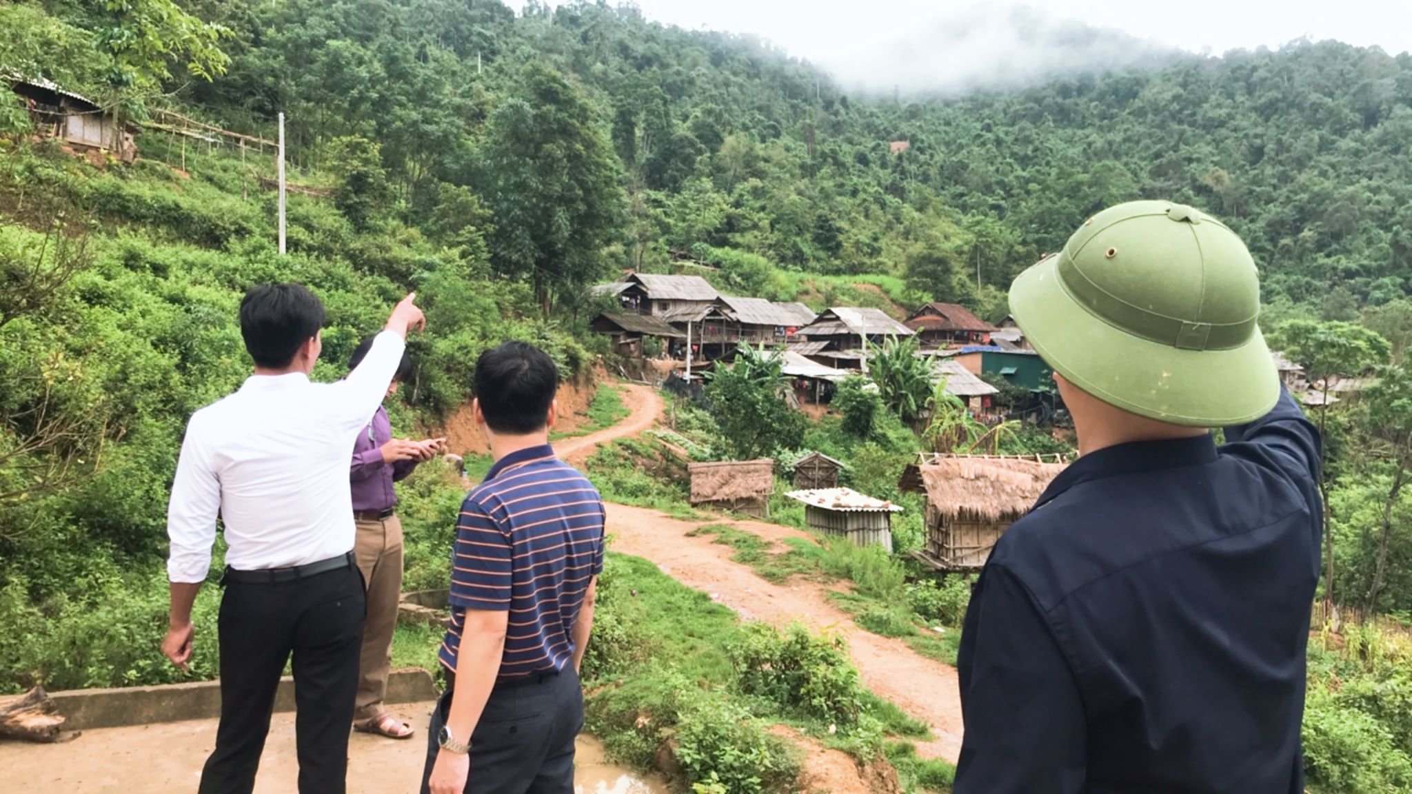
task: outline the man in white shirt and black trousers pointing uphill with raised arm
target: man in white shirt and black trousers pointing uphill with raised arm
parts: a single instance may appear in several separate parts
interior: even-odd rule
[[[186,427],[167,511],[171,617],[162,653],[178,667],[191,657],[191,606],[210,568],[217,513],[227,545],[220,726],[201,794],[254,788],[291,654],[299,791],[345,791],[364,613],[347,462],[387,394],[408,328],[425,322],[412,300],[393,309],[347,379],[309,383],[323,304],[299,284],[250,290],[240,335],[254,374]]]

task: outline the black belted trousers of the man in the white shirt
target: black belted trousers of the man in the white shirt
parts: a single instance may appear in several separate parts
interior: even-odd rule
[[[291,582],[227,582],[220,598],[220,726],[201,794],[250,794],[274,695],[294,654],[299,794],[343,794],[363,643],[354,565]]]

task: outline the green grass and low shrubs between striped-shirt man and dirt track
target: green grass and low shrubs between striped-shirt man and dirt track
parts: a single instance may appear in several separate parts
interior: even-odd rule
[[[868,762],[888,736],[928,737],[861,688],[839,639],[740,623],[635,557],[610,554],[599,593],[585,658],[587,729],[617,760],[652,766],[665,745],[688,786],[791,791],[799,759],[771,723]]]

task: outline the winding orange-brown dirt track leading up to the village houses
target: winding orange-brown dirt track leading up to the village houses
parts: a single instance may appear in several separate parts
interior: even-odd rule
[[[628,418],[592,435],[563,439],[556,445],[559,455],[582,461],[597,444],[637,435],[662,414],[661,397],[647,386],[626,386],[623,401],[633,411]],[[962,746],[962,708],[953,667],[918,656],[901,640],[860,629],[829,603],[825,588],[816,583],[796,581],[772,585],[755,576],[748,567],[733,562],[731,548],[706,535],[686,535],[706,521],[682,521],[657,510],[616,503],[609,503],[607,511],[614,551],[651,559],[669,576],[710,593],[743,617],[775,626],[801,620],[813,629],[842,633],[868,689],[932,726],[936,739],[919,742],[918,753],[956,763]],[[764,521],[723,523],[774,543],[786,537],[809,537],[792,527]]]

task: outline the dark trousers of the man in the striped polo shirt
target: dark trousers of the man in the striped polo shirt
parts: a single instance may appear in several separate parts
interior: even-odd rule
[[[438,735],[446,725],[455,684],[442,692],[426,729],[422,794],[436,763]],[[573,667],[532,684],[496,687],[470,735],[474,794],[573,794],[573,740],[583,729],[583,688]]]

